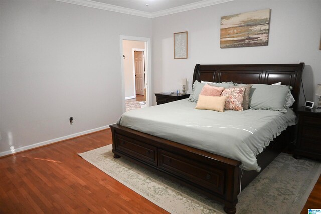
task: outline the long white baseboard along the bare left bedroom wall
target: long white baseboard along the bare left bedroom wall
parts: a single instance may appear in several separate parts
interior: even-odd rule
[[[48,145],[48,144],[51,144],[51,143],[56,143],[56,142],[59,142],[59,141],[62,141],[62,140],[67,140],[67,139],[70,139],[70,138],[78,137],[78,136],[81,136],[81,135],[84,135],[84,134],[89,134],[89,133],[100,131],[100,130],[107,129],[107,128],[109,128],[109,125],[98,127],[98,128],[95,128],[95,129],[90,129],[90,130],[87,130],[87,131],[78,132],[78,133],[67,135],[67,136],[64,136],[64,137],[58,137],[58,138],[55,138],[55,139],[52,139],[52,140],[47,140],[47,141],[44,141],[44,142],[35,143],[35,144],[29,145],[29,146],[24,146],[24,147],[20,147],[20,148],[9,150],[9,151],[0,152],[0,157],[5,156],[5,155],[9,155],[9,154],[14,154],[14,153],[21,152],[21,151],[25,151],[25,150],[28,150],[28,149],[37,148],[39,146],[44,146],[44,145]]]

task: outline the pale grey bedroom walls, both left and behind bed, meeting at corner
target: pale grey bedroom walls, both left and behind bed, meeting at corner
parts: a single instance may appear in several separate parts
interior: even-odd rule
[[[221,16],[265,8],[272,9],[268,46],[219,48]],[[152,93],[181,89],[185,77],[190,92],[197,63],[305,62],[306,97],[316,101],[320,8],[319,0],[237,0],[148,19],[54,0],[1,0],[0,156],[116,122],[120,35],[152,36]],[[189,58],[174,60],[173,33],[182,31]]]

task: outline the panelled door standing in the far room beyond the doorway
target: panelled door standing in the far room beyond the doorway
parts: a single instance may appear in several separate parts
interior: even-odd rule
[[[144,53],[143,51],[135,51],[135,83],[136,94],[144,95]]]

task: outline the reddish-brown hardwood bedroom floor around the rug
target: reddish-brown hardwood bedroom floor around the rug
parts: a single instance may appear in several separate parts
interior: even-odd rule
[[[0,213],[167,213],[77,155],[111,143],[107,129],[0,158]],[[308,208],[321,208],[321,176]]]

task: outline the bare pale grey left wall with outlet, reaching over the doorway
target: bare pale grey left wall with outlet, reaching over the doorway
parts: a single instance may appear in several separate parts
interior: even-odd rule
[[[151,19],[54,0],[1,0],[0,155],[115,123],[120,35],[150,38]]]

